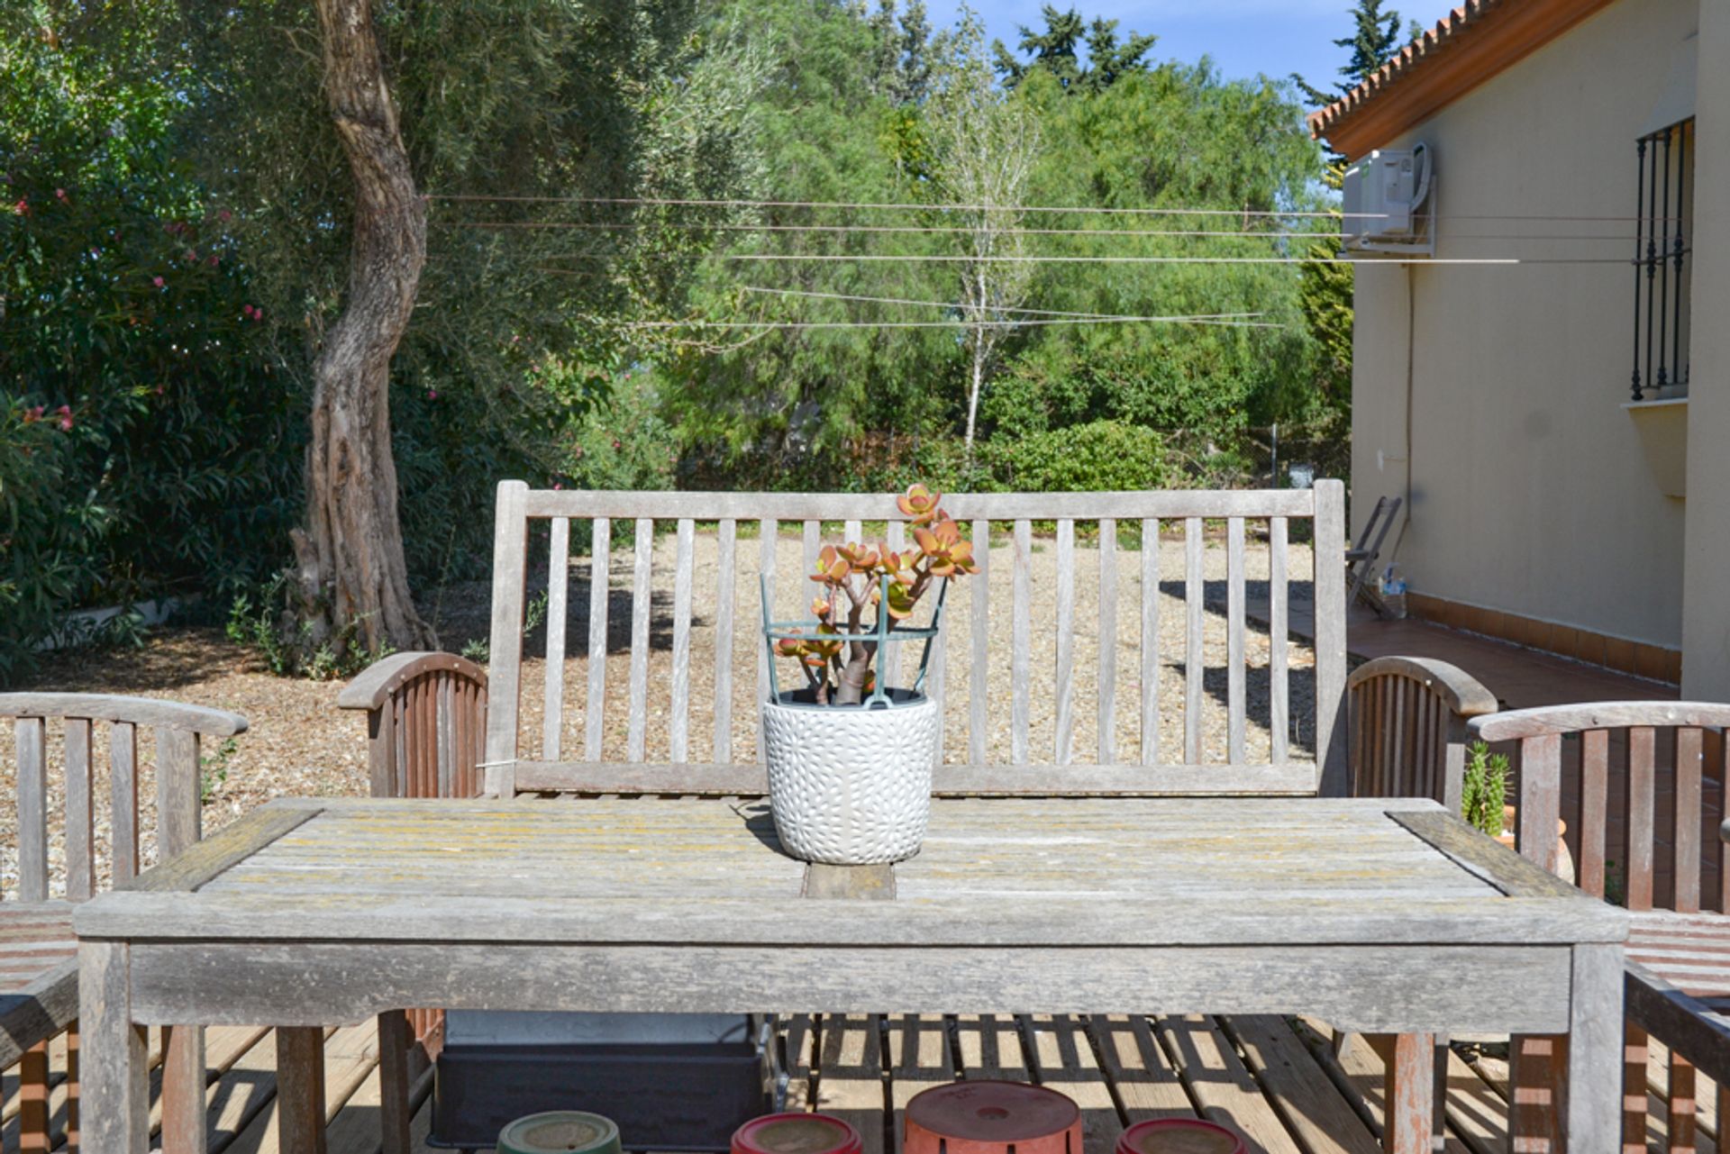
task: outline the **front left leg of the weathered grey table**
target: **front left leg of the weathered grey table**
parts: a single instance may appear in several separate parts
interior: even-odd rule
[[[83,1031],[81,1154],[147,1154],[151,1081],[144,1028],[131,1024],[130,946],[78,945],[78,1023]]]

